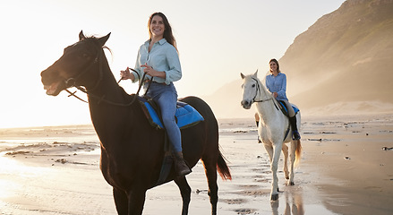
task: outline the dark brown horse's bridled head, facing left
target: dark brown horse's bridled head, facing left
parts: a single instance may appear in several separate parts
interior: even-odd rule
[[[97,80],[98,75],[91,75],[90,71],[98,69],[98,61],[102,47],[109,34],[102,38],[86,38],[83,32],[79,34],[79,41],[64,48],[64,54],[54,64],[41,73],[41,82],[47,95],[57,96],[62,90],[73,86],[89,85],[91,80]]]

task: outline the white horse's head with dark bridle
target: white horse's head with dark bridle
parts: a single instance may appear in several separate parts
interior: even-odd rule
[[[255,98],[258,95],[258,91],[260,90],[258,70],[257,72],[250,75],[244,75],[243,73],[240,73],[240,76],[243,79],[243,99],[241,104],[244,109],[250,109],[252,103],[255,101]]]

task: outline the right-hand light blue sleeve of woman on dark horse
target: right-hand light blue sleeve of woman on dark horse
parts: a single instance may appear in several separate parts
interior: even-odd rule
[[[182,78],[182,67],[179,55],[173,46],[167,49],[167,65],[168,70],[164,71],[166,73],[165,83],[170,84],[179,81]]]

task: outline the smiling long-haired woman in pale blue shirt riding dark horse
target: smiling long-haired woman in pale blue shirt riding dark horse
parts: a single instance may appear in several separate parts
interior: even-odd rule
[[[153,99],[160,108],[162,121],[167,131],[169,142],[174,148],[175,170],[177,176],[191,173],[184,162],[182,137],[175,122],[177,102],[176,82],[182,78],[182,69],[177,54],[175,37],[172,28],[163,13],[153,13],[148,22],[150,39],[141,45],[135,64],[135,72],[127,68],[121,71],[122,80],[140,81],[147,90],[147,96]],[[153,68],[154,67],[154,68]]]

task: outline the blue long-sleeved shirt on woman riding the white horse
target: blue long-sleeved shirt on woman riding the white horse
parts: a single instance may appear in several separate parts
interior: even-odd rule
[[[288,100],[286,98],[286,74],[285,73],[278,73],[277,76],[273,74],[269,74],[266,76],[266,87],[268,90],[273,93],[277,92],[278,100]]]

